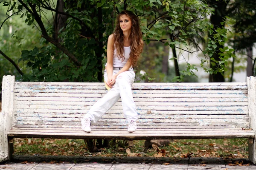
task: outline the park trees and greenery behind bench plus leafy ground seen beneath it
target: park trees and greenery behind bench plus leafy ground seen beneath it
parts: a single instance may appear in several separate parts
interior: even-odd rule
[[[139,16],[143,32],[136,82],[245,82],[255,76],[255,0],[0,0],[0,84],[3,75],[102,82],[107,39],[125,9]],[[20,154],[90,155],[83,141],[53,146],[52,139],[16,140]],[[125,146],[115,141],[96,154],[126,154]],[[141,148],[137,141],[131,150]],[[247,157],[247,149],[247,139],[173,140],[165,156]],[[149,153],[157,156],[156,147]]]

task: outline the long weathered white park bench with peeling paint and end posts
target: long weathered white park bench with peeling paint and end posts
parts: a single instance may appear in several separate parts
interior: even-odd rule
[[[127,132],[120,100],[92,132],[80,119],[107,92],[104,83],[15,82],[3,77],[0,160],[12,159],[14,138],[248,138],[255,163],[256,79],[233,83],[134,83],[139,119]]]

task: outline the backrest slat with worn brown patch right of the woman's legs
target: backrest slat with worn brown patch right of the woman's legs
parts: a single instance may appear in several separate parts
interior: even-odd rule
[[[16,108],[14,109],[14,113],[29,113],[29,114],[40,114],[40,113],[69,113],[69,114],[84,114],[87,113],[88,110],[81,110],[81,109],[73,109],[73,110],[67,110],[67,109],[33,109],[33,108],[27,108],[27,109],[21,109]],[[154,109],[152,110],[137,110],[138,114],[165,114],[165,115],[179,115],[179,114],[185,114],[185,115],[199,115],[199,114],[213,114],[213,115],[229,115],[229,114],[248,114],[248,110],[226,110],[226,111],[156,111]],[[123,114],[122,109],[111,109],[106,114]]]

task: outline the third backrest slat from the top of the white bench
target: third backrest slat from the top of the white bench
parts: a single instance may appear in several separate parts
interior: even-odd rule
[[[14,96],[34,96],[34,97],[102,97],[105,94],[67,94],[67,93],[15,93]],[[154,98],[248,98],[247,94],[133,94],[133,97],[154,97]]]

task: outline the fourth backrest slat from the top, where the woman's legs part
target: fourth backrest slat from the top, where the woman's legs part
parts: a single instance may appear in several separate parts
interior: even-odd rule
[[[101,97],[23,97],[15,96],[15,101],[70,101],[93,102]],[[133,98],[134,102],[248,102],[248,98]],[[118,100],[121,102],[121,98]]]

